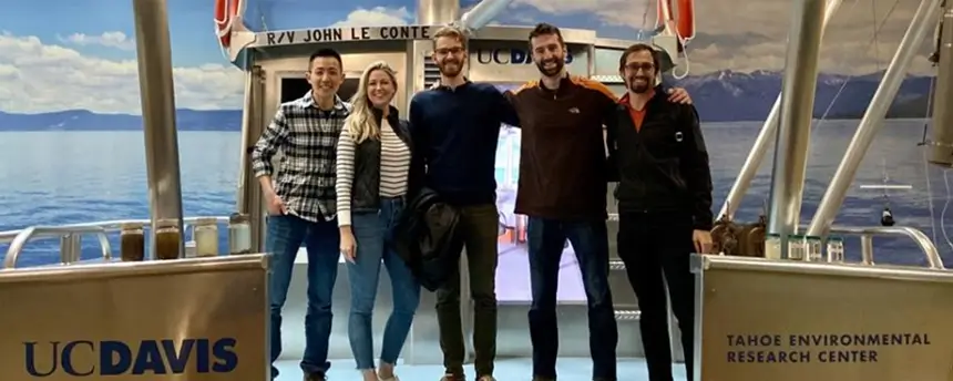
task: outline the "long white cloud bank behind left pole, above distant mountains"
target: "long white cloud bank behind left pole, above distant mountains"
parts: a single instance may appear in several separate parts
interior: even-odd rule
[[[140,114],[135,60],[105,60],[37,37],[0,33],[0,111],[49,112],[82,109]],[[242,72],[227,64],[175,68],[180,109],[240,109]]]

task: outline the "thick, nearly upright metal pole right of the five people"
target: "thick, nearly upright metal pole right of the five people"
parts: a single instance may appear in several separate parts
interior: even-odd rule
[[[782,255],[788,235],[797,231],[801,212],[824,1],[799,0],[792,13],[768,213],[768,231],[781,235]]]

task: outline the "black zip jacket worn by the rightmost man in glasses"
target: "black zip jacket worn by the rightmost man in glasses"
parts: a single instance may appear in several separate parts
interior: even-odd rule
[[[645,105],[642,128],[626,104],[606,126],[609,173],[619,213],[687,213],[710,230],[711,171],[695,106],[668,102],[663,91]]]

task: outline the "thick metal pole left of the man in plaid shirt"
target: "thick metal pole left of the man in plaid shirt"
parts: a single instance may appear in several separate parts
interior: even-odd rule
[[[182,237],[182,185],[166,1],[133,0],[132,4],[152,226],[160,220],[173,222]],[[150,231],[150,251],[154,255],[155,229]],[[182,257],[184,239],[178,240],[178,246]]]

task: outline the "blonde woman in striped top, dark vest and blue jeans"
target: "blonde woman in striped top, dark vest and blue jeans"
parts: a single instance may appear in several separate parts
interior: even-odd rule
[[[368,66],[337,151],[338,225],[351,292],[348,338],[363,381],[397,380],[393,364],[420,299],[420,286],[387,244],[403,210],[412,154],[409,125],[390,105],[394,93],[393,70],[385,62]],[[393,311],[375,370],[371,315],[381,262],[390,275]]]

